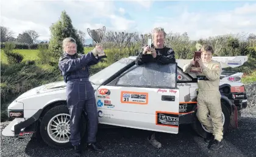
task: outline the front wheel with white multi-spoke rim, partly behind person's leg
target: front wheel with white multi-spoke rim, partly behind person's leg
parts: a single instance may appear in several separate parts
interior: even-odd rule
[[[69,142],[70,128],[69,128],[69,110],[66,105],[57,105],[48,110],[43,116],[40,124],[40,134],[46,144],[55,149],[62,149],[71,147]],[[80,125],[81,139],[86,132],[85,116],[82,115],[82,122]]]

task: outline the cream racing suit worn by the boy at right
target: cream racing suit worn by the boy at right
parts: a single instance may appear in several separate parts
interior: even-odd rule
[[[219,79],[221,75],[221,64],[217,61],[204,63],[205,68],[201,73],[196,73],[199,93],[197,95],[197,118],[205,128],[213,133],[215,139],[222,140],[222,109],[221,94],[219,92]],[[190,72],[191,64],[184,65],[183,72]],[[208,119],[208,110],[212,122]]]

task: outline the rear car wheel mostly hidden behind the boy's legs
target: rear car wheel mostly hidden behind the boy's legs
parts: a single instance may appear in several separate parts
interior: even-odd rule
[[[229,122],[230,122],[230,112],[227,109],[225,102],[221,101],[221,109],[222,109],[222,125],[223,125],[223,133],[226,133],[229,129]],[[209,117],[210,118],[210,117]],[[210,133],[207,129],[205,129],[204,125],[196,117],[195,122],[193,123],[194,131],[201,136],[202,138],[206,138],[207,135]]]

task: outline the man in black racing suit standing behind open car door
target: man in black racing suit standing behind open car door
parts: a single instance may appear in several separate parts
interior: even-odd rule
[[[166,33],[163,28],[154,28],[152,31],[152,41],[154,44],[151,45],[151,48],[149,48],[149,45],[146,45],[143,48],[143,52],[137,56],[135,63],[141,65],[146,62],[158,62],[160,64],[176,62],[174,50],[164,46],[165,36]],[[147,139],[155,148],[162,147],[162,144],[155,139],[155,132],[151,132]]]

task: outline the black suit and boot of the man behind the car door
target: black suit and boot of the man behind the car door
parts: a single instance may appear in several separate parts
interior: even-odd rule
[[[148,46],[148,45],[146,45],[146,46]],[[153,46],[154,45],[152,44],[151,47],[153,47]],[[141,64],[144,64],[146,62],[157,62],[159,64],[169,64],[169,63],[172,63],[172,62],[176,62],[175,52],[174,52],[174,50],[172,50],[172,48],[169,48],[169,47],[155,48],[155,52],[157,53],[157,56],[155,58],[153,58],[152,55],[148,55],[148,54],[143,55],[143,52],[141,52],[137,56],[137,58],[135,60],[135,63],[137,65],[141,65]],[[153,79],[154,79],[154,76],[153,76]],[[150,132],[149,133],[148,141],[155,148],[162,147],[162,144],[155,139],[155,132]]]

